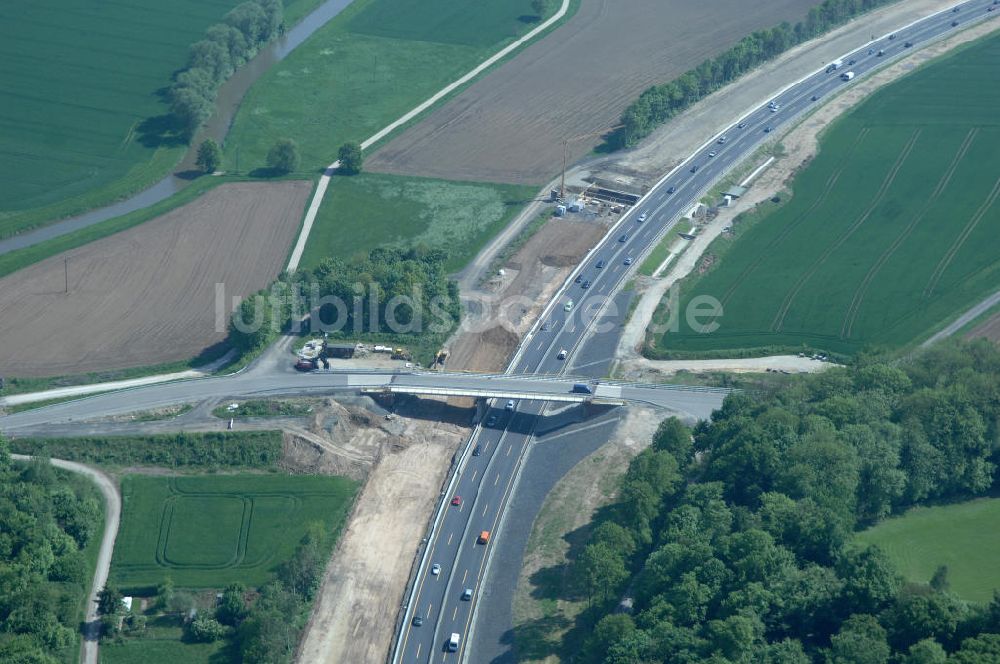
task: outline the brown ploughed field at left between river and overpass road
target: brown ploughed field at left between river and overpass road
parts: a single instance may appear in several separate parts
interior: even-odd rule
[[[224,185],[0,279],[0,375],[80,374],[198,355],[225,337],[216,330],[216,284],[225,284],[231,303],[229,296],[278,274],[311,186]]]

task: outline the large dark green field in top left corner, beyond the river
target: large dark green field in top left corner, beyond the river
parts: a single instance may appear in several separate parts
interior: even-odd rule
[[[0,5],[0,237],[152,184],[186,146],[162,93],[241,0]],[[290,20],[319,0],[285,0]]]

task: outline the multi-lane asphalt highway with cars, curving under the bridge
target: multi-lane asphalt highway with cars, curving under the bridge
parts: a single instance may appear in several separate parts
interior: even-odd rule
[[[961,25],[1000,14],[987,11],[991,4],[992,0],[966,2],[957,12],[929,16],[900,28],[891,38],[885,35],[859,45],[843,56],[839,69],[823,68],[791,84],[712,137],[657,183],[584,259],[525,337],[509,373],[560,373],[595,341],[594,335],[617,335],[625,312],[605,310],[605,304],[680,215],[728,170],[824,97],[901,57],[911,48],[908,43],[917,46],[946,34],[956,29],[953,22]],[[841,75],[849,71],[854,73],[852,80],[843,80]],[[589,324],[591,320],[595,324]],[[497,526],[531,440],[532,422],[542,408],[537,402],[517,403],[512,411],[494,408],[485,419],[496,418],[495,423],[473,433],[469,449],[478,453],[463,455],[453,490],[442,497],[440,518],[432,527],[413,599],[404,612],[394,664],[477,661],[467,643],[487,553],[495,538],[503,537]],[[458,500],[452,504],[455,497]],[[490,532],[490,543],[478,543],[482,531]],[[439,572],[432,573],[434,565],[440,566]],[[471,596],[463,596],[466,590]],[[448,648],[452,634],[459,637],[457,652]]]

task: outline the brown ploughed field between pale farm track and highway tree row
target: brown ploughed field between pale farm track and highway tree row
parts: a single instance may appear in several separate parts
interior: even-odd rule
[[[757,28],[805,16],[814,0],[582,0],[577,14],[376,152],[369,170],[540,183],[563,141],[613,126],[670,80]],[[623,37],[624,36],[624,37]],[[600,142],[573,141],[569,161]]]

